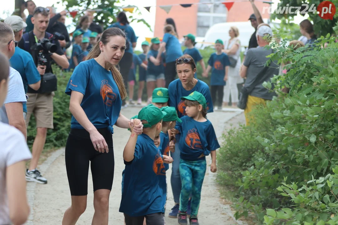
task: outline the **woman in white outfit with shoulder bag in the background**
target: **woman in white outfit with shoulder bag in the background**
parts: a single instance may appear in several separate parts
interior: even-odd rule
[[[223,50],[228,55],[230,60],[228,80],[224,86],[223,92],[223,106],[227,107],[229,104],[230,93],[233,107],[237,107],[238,103],[238,88],[237,84],[243,83],[243,78],[239,76],[239,69],[241,67],[241,43],[238,39],[239,31],[237,27],[230,27],[230,39],[226,44],[226,49]]]

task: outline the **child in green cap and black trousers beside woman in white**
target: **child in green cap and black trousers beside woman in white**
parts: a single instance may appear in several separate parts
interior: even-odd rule
[[[208,61],[208,67],[203,77],[208,77],[211,70],[210,79],[210,93],[214,106],[218,106],[218,109],[222,109],[224,86],[228,80],[228,71],[230,66],[230,60],[227,54],[222,52],[224,49],[223,41],[217,39],[215,41],[216,53],[213,53]]]

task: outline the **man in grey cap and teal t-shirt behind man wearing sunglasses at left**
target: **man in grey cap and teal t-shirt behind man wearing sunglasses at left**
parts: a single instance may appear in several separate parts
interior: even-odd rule
[[[19,16],[10,16],[4,20],[4,23],[8,24],[13,29],[15,41],[20,41],[23,35],[23,29],[27,26],[22,18]],[[20,73],[25,93],[27,93],[28,86],[34,90],[39,90],[41,77],[32,56],[28,52],[16,47],[15,53],[9,61],[10,65]],[[26,103],[23,104],[23,114],[26,119]]]

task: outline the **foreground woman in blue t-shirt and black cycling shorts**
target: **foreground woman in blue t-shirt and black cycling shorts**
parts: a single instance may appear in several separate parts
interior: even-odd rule
[[[109,28],[75,67],[65,93],[70,95],[71,130],[66,143],[66,170],[72,205],[63,224],[75,224],[86,209],[88,170],[91,165],[95,216],[92,224],[108,223],[108,199],[114,178],[113,125],[129,128],[121,114],[127,96],[116,65],[124,55],[126,36],[119,28]],[[143,125],[135,128],[142,134]]]

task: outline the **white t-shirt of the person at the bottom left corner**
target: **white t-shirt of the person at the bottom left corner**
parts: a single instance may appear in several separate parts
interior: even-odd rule
[[[6,190],[6,168],[31,157],[32,154],[23,134],[13,126],[0,122],[0,224],[11,224]]]

